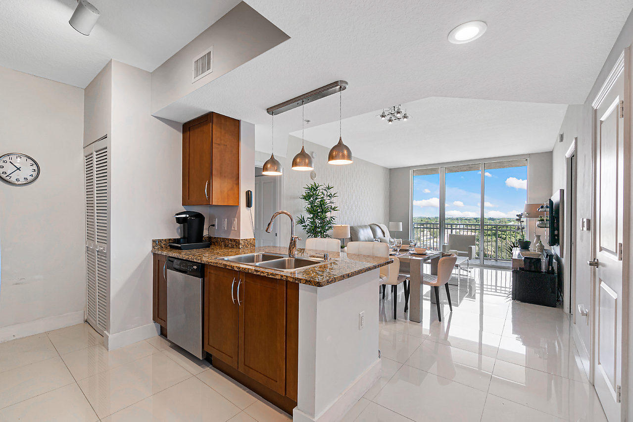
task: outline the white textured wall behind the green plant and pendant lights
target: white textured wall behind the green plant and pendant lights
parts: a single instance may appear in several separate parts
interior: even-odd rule
[[[334,141],[332,141],[334,142]],[[332,144],[334,145],[334,144]],[[284,166],[283,196],[281,209],[289,211],[295,220],[305,214],[304,202],[299,199],[303,188],[312,182],[330,184],[339,196],[335,199],[340,211],[335,214],[336,224],[360,225],[369,223],[388,223],[389,220],[389,169],[362,159],[354,159],[353,164],[332,166],[327,163],[329,148],[305,142],[306,152],[315,152],[313,164],[316,180],[311,180],[310,171],[291,169],[292,158],[301,151],[301,139],[289,136],[285,157],[277,157]],[[257,152],[256,161],[263,163],[270,153]],[[286,245],[290,237],[290,222],[287,217],[277,217],[280,228],[280,244]],[[303,247],[307,238],[301,226],[295,227],[296,235],[301,237],[299,245]]]

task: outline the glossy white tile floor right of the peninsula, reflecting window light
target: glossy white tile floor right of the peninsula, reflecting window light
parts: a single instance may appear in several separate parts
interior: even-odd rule
[[[423,321],[380,301],[382,377],[346,421],[606,421],[560,308],[510,301],[511,273],[476,268]],[[456,276],[451,280],[456,284]]]

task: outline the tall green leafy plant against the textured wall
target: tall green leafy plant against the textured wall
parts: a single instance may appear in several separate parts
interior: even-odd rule
[[[334,198],[339,192],[332,192],[334,186],[311,183],[303,188],[300,196],[306,202],[303,209],[307,216],[301,214],[297,218],[297,224],[303,227],[304,232],[310,237],[331,237],[329,232],[334,227],[332,213],[339,211]]]

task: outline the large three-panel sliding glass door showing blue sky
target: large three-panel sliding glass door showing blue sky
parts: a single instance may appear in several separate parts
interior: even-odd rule
[[[412,178],[412,239],[440,250],[451,235],[472,236],[475,263],[510,264],[522,237],[516,219],[527,199],[527,159],[417,169]]]

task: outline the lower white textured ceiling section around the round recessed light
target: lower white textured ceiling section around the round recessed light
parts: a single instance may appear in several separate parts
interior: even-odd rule
[[[206,109],[251,121],[258,151],[270,150],[266,108],[339,79],[349,82],[344,117],[427,97],[582,103],[632,6],[631,0],[248,3],[291,39],[160,116],[186,121]],[[448,42],[448,32],[469,20],[487,22],[486,34],[468,44]],[[338,116],[335,96],[306,107],[314,125]],[[285,154],[287,134],[300,128],[300,109],[275,118],[275,152]]]

